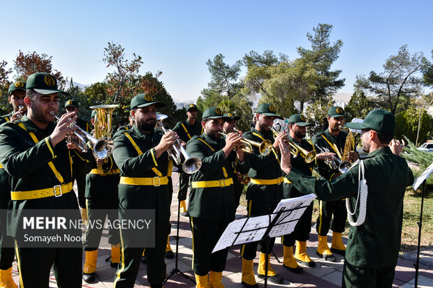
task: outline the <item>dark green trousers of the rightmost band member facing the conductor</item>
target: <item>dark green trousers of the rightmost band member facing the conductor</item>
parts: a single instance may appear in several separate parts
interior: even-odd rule
[[[330,227],[331,219],[332,227]],[[325,236],[328,234],[330,228],[333,232],[343,233],[346,219],[346,201],[320,201],[319,214],[316,223],[317,234]]]

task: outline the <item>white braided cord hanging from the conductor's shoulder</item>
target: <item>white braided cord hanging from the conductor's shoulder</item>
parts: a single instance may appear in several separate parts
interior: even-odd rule
[[[348,222],[352,226],[359,226],[365,221],[365,215],[367,214],[367,195],[368,195],[368,186],[367,186],[367,180],[364,176],[364,161],[358,160],[360,164],[359,172],[358,172],[358,196],[356,197],[356,203],[355,203],[355,209],[353,209],[353,212],[351,212],[350,209],[350,200],[349,198],[346,198],[346,209],[348,214]],[[356,164],[356,163],[355,163]],[[355,166],[355,165],[353,165]],[[352,166],[352,167],[353,167]],[[362,174],[362,179],[361,179]],[[353,221],[353,215],[356,213],[356,209],[358,209],[358,204],[360,206],[360,213],[358,215],[358,219]]]

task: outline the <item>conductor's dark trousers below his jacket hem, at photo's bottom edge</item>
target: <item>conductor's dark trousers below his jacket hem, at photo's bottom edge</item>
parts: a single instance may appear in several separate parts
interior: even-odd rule
[[[396,265],[361,268],[344,259],[342,288],[391,288]]]

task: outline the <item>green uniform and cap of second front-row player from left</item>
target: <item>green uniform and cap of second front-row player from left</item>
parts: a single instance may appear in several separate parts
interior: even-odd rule
[[[138,94],[131,100],[131,109],[142,105],[156,104],[147,94]],[[162,287],[166,278],[167,236],[170,233],[170,189],[168,174],[170,161],[164,152],[156,159],[154,147],[161,141],[161,135],[152,131],[145,134],[137,126],[120,130],[114,137],[113,156],[120,170],[119,217],[128,209],[154,209],[156,216],[155,247],[145,250],[147,280],[151,287]],[[147,183],[149,182],[149,183]],[[128,233],[121,230],[122,258],[116,273],[115,288],[133,287],[137,277],[142,248],[131,247]]]

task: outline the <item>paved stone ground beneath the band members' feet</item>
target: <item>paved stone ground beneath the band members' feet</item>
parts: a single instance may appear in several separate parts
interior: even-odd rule
[[[173,175],[173,183],[177,185],[178,178],[177,174]],[[174,189],[177,191],[177,187]],[[245,207],[240,206],[237,209],[237,218],[244,217],[247,214]],[[173,195],[173,203],[171,206],[171,224],[172,230],[170,234],[170,245],[173,251],[176,249],[176,221],[177,221],[177,193]],[[337,262],[325,262],[324,260],[316,258],[317,248],[317,234],[316,229],[311,229],[310,239],[307,241],[307,253],[316,261],[317,265],[314,268],[303,267],[304,272],[302,274],[295,274],[288,271],[280,264],[275,257],[271,258],[271,264],[274,270],[284,278],[284,283],[281,285],[275,285],[272,282],[268,282],[267,287],[320,287],[320,288],[333,288],[341,287],[342,282],[342,268],[343,258],[336,255]],[[344,239],[344,242],[346,239]],[[330,243],[331,237],[328,236],[328,242]],[[92,284],[82,282],[82,287],[94,287],[94,288],[111,288],[114,281],[116,269],[110,267],[110,262],[106,262],[105,259],[110,255],[110,249],[108,248],[107,235],[103,234],[101,241],[101,247],[98,251],[98,268],[96,269],[96,281]],[[178,268],[184,272],[190,278],[194,278],[193,271],[191,269],[192,262],[192,241],[191,241],[191,229],[189,227],[189,220],[186,217],[180,217],[179,222],[179,262]],[[281,245],[280,238],[276,240],[274,245],[274,253],[279,258],[279,261],[283,261],[283,247]],[[257,253],[258,255],[258,253]],[[84,258],[84,257],[83,257]],[[415,268],[413,264],[416,262],[416,251],[409,252],[406,255],[399,257],[397,262],[397,268],[395,272],[395,280],[393,287],[414,287],[415,282]],[[166,259],[167,273],[169,274],[175,267],[175,260]],[[36,264],[37,265],[37,264]],[[254,270],[256,271],[258,265],[258,257],[254,260]],[[14,263],[13,271],[15,273],[14,279],[16,283],[19,283],[17,275],[16,263]],[[240,284],[242,271],[242,259],[240,259],[240,247],[234,247],[230,249],[228,253],[228,259],[226,264],[226,270],[223,272],[223,285],[226,288],[242,288]],[[257,280],[259,280],[257,278]],[[260,287],[264,287],[263,280],[258,281]],[[50,287],[57,287],[54,275],[51,276]],[[146,278],[146,266],[140,264],[140,270],[138,271],[138,277],[135,281],[135,287],[149,287],[149,283]],[[174,275],[166,285],[165,288],[180,287],[189,288],[194,287],[193,282],[182,278],[180,275]],[[418,287],[433,287],[433,247],[424,249],[420,252],[420,270],[418,276]]]

